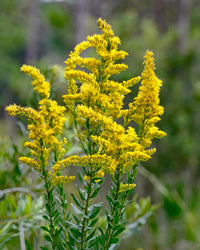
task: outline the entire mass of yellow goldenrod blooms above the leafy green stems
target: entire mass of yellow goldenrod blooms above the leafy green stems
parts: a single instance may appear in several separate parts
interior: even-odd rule
[[[128,54],[118,50],[120,39],[114,36],[106,21],[99,18],[97,24],[102,34],[88,36],[86,41],[75,47],[65,61],[68,94],[64,95],[63,99],[73,115],[77,129],[78,126],[84,128],[78,130],[78,136],[86,156],[79,157],[78,160],[74,157],[74,162],[70,158],[64,159],[64,162],[61,160],[65,152],[63,146],[66,144],[66,138],[58,140],[58,136],[66,119],[65,108],[49,99],[50,84],[38,69],[28,65],[21,67],[23,72],[34,79],[34,90],[41,96],[40,110],[15,104],[7,107],[10,115],[24,115],[29,121],[31,141],[25,146],[31,149],[33,158],[21,157],[20,160],[42,171],[47,165],[50,151],[53,150],[58,162],[52,168],[52,176],[64,169],[63,166],[68,166],[67,162],[82,166],[90,163],[92,166],[91,159],[94,155],[97,155],[104,172],[113,175],[116,169],[120,168],[125,174],[135,163],[150,159],[155,152],[155,149],[150,148],[153,138],[166,135],[155,126],[160,120],[159,116],[163,114],[163,107],[159,105],[162,81],[154,73],[153,52],[146,52],[138,95],[129,104],[129,109],[124,110],[125,95],[131,92],[130,87],[138,83],[141,77],[133,77],[121,83],[111,79],[112,75],[127,69],[127,65],[119,63],[119,60]],[[91,47],[95,49],[97,58],[81,57],[80,54]],[[89,73],[80,68],[87,69]],[[120,117],[124,118],[124,125],[134,121],[139,129],[136,131],[130,126],[125,129],[124,125],[116,122]],[[95,164],[99,167],[97,161]]]

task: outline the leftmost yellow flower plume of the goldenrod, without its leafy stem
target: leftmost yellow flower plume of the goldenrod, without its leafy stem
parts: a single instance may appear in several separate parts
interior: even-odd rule
[[[42,174],[47,171],[48,159],[50,151],[54,152],[55,161],[60,160],[64,153],[64,145],[67,143],[66,138],[59,139],[62,132],[65,116],[65,107],[57,104],[49,98],[50,84],[45,81],[44,76],[38,69],[29,65],[23,65],[21,70],[30,75],[34,81],[32,85],[35,86],[34,90],[38,92],[41,97],[39,101],[39,111],[30,107],[21,107],[13,104],[6,108],[9,115],[21,115],[28,118],[28,130],[30,131],[30,141],[25,142],[25,146],[30,149],[32,157],[20,157],[19,159],[33,167],[37,172]],[[56,163],[55,163],[56,164]],[[74,177],[59,176],[51,174],[52,181],[57,184],[58,182],[72,181]]]

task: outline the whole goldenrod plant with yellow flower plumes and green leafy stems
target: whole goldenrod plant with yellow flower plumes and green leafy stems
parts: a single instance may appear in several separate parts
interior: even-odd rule
[[[154,72],[153,52],[146,52],[141,77],[117,82],[112,76],[128,68],[121,62],[127,53],[118,50],[120,39],[106,21],[99,18],[97,24],[102,34],[88,36],[65,61],[65,106],[50,98],[51,86],[38,69],[23,65],[21,70],[34,79],[32,85],[40,95],[38,110],[16,104],[6,108],[11,116],[28,118],[30,133],[25,146],[31,156],[20,160],[44,180],[43,218],[47,225],[41,228],[51,249],[117,248],[126,228],[125,211],[135,188],[137,167],[155,153],[152,139],[166,135],[156,126],[164,110],[159,100],[162,81]],[[95,49],[95,58],[81,56],[88,48]],[[139,82],[138,95],[124,109],[125,96]],[[66,157],[67,139],[62,136],[66,113],[74,121],[81,155]],[[71,194],[71,209],[63,186],[75,178],[63,173],[69,166],[82,169],[77,171],[79,197]],[[105,226],[101,227],[98,219],[103,203],[95,203],[95,197],[108,175],[112,185],[105,195],[109,205]],[[47,245],[41,249],[49,248]]]

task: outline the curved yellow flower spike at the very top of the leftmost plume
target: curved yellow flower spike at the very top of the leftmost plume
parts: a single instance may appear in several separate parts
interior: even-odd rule
[[[37,68],[30,65],[23,65],[21,71],[34,79],[32,82],[32,85],[35,86],[34,90],[38,92],[42,98],[48,98],[50,96],[50,84],[45,81],[44,76]]]

